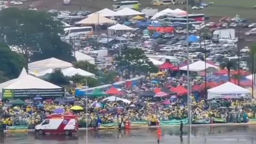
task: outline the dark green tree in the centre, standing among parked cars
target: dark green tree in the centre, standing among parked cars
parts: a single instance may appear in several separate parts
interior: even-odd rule
[[[141,49],[128,49],[119,55],[116,60],[122,71],[127,70],[127,78],[130,78],[132,72],[135,74],[147,74],[157,71],[156,66],[148,59]]]

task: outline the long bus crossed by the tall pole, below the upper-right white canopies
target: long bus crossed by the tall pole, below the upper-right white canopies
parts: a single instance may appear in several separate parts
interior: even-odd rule
[[[182,18],[164,18],[162,20],[159,20],[159,22],[164,22],[164,23],[178,23],[181,25],[187,24],[187,19],[182,19]],[[201,21],[196,21],[194,19],[188,19],[188,23],[190,25],[200,25],[202,22]]]

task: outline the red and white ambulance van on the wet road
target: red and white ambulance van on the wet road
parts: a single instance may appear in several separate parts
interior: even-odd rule
[[[41,124],[35,126],[35,132],[40,135],[45,133],[71,135],[78,132],[77,116],[58,114],[47,116]]]

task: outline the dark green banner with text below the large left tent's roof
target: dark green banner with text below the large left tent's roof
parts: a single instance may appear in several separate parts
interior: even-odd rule
[[[2,98],[21,98],[21,97],[64,97],[65,89],[3,89]]]

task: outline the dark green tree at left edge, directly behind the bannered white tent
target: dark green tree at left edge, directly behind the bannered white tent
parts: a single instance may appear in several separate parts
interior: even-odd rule
[[[0,75],[10,79],[17,78],[25,66],[25,58],[21,54],[11,51],[9,46],[4,44],[0,44],[0,61]]]

